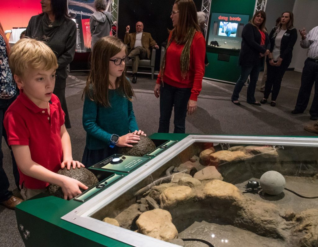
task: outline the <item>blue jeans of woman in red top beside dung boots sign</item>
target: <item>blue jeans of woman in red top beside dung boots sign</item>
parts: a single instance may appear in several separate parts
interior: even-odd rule
[[[255,88],[256,83],[259,76],[259,71],[261,69],[261,66],[259,63],[253,65],[253,66],[241,66],[241,75],[239,77],[239,80],[236,82],[234,91],[232,94],[232,101],[239,100],[239,93],[242,90],[244,83],[246,82],[248,76],[250,75],[250,83],[247,87],[247,96],[246,96],[246,102],[247,103],[254,103],[255,97]]]

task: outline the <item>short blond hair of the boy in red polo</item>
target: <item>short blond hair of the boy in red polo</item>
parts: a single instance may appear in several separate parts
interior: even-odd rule
[[[51,70],[59,67],[52,49],[31,38],[23,38],[15,43],[9,61],[12,74],[20,77],[23,77],[28,69]]]

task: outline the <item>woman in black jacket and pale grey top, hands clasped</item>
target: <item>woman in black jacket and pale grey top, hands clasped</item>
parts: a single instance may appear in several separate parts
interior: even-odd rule
[[[260,103],[265,104],[272,91],[271,106],[276,106],[280,84],[293,57],[293,48],[297,40],[297,30],[293,27],[294,15],[284,12],[280,23],[269,34],[271,48],[267,63],[267,81],[264,98]]]

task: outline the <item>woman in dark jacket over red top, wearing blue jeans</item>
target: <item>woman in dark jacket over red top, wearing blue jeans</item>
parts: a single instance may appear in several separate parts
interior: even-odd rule
[[[266,14],[264,11],[257,11],[250,23],[247,23],[242,30],[242,43],[239,53],[239,65],[241,65],[241,75],[236,82],[232,94],[232,102],[240,105],[239,93],[242,90],[248,76],[250,83],[247,88],[246,102],[249,104],[260,105],[255,100],[254,93],[256,82],[259,76],[259,70],[268,55],[270,43],[265,28]]]

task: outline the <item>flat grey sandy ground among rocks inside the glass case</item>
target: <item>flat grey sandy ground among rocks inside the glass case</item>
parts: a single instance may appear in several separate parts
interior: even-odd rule
[[[318,181],[311,177],[291,177],[284,176],[286,179],[286,188],[295,191],[296,193],[306,196],[306,197],[316,197],[318,196]],[[259,181],[257,178],[251,178],[250,180]],[[245,191],[244,186],[247,181],[235,184],[240,191]],[[315,208],[318,204],[318,198],[307,199],[299,197],[290,191],[284,190],[280,195],[270,196],[270,195],[260,195],[258,193],[245,193],[245,196],[259,201],[268,201],[273,203],[280,208],[282,211],[287,209],[292,209],[294,213],[299,213],[303,210],[309,208]],[[178,234],[178,238],[197,238],[208,241],[213,244],[214,247],[219,246],[287,246],[287,243],[268,237],[262,237],[255,233],[247,230],[240,229],[238,227],[215,221],[214,223],[209,223],[206,221],[194,222],[187,229],[183,230]],[[206,247],[207,244],[198,241],[184,241],[185,247]]]

